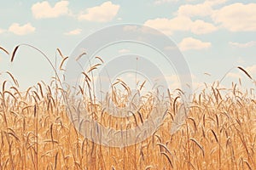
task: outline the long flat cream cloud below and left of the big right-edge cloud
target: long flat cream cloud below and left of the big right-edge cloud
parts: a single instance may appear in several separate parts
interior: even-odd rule
[[[151,26],[166,35],[172,35],[174,31],[191,31],[195,34],[207,34],[217,31],[218,28],[203,20],[192,21],[189,17],[177,16],[171,20],[166,18],[157,18],[147,20],[145,26]]]

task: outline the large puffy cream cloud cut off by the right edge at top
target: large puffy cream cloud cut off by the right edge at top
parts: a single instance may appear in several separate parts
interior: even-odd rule
[[[212,14],[212,20],[229,31],[256,31],[256,3],[233,3]]]

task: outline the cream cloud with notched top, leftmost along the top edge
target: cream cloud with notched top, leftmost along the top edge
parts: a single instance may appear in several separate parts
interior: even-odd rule
[[[60,1],[51,7],[47,1],[32,5],[32,14],[36,19],[57,18],[69,13],[68,1]]]

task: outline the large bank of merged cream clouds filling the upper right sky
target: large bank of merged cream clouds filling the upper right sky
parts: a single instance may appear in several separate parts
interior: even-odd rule
[[[204,3],[181,5],[173,18],[151,19],[145,21],[144,25],[167,35],[172,35],[174,31],[208,34],[220,28],[229,31],[256,31],[256,3],[232,3],[222,8],[213,8],[226,2],[227,0],[207,0]],[[211,19],[212,22],[202,20],[203,18]]]

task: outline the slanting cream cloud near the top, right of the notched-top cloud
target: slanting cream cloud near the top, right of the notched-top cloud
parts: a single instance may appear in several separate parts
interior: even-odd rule
[[[86,14],[79,14],[79,20],[90,20],[96,22],[108,22],[119,12],[119,5],[110,1],[102,3],[100,6],[87,8]]]

